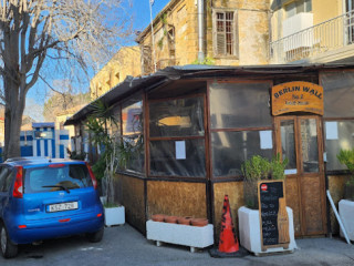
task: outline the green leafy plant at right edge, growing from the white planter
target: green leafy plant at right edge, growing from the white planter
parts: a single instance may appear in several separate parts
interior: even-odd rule
[[[351,176],[344,184],[344,198],[348,201],[354,201],[354,149],[352,150],[341,150],[336,156],[339,161],[344,164]]]

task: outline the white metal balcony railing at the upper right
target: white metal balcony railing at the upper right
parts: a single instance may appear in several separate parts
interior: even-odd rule
[[[273,63],[315,57],[354,43],[354,10],[270,43]]]

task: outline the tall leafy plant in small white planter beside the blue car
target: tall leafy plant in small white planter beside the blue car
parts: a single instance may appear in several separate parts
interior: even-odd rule
[[[86,126],[92,142],[100,151],[100,158],[92,170],[104,194],[105,224],[119,225],[125,223],[125,209],[115,202],[114,175],[126,162],[125,153],[122,152],[124,145],[117,135],[108,133],[108,125],[116,124],[112,110],[100,101],[93,108],[93,114],[87,119]]]

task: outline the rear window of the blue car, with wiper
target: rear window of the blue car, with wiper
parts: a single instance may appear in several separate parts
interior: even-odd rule
[[[92,186],[86,165],[69,164],[55,167],[25,168],[24,193],[69,191]]]

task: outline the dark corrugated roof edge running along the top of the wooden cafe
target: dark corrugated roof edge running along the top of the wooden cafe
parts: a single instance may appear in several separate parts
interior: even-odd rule
[[[262,75],[262,74],[300,74],[324,69],[354,69],[351,64],[264,64],[264,65],[243,65],[243,66],[219,66],[219,65],[181,65],[169,66],[159,70],[154,74],[140,78],[128,76],[124,82],[117,84],[111,91],[91,102],[73,116],[66,120],[64,125],[75,124],[85,119],[93,110],[93,103],[102,101],[107,105],[122,101],[138,90],[149,91],[158,85],[179,79],[210,79],[210,78],[239,78],[243,75]]]

